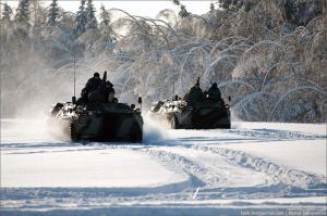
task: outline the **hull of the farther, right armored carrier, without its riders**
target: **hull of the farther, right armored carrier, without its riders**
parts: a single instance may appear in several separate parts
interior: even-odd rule
[[[203,101],[189,105],[185,100],[165,100],[153,103],[148,115],[167,120],[173,129],[230,129],[230,110],[223,101]]]

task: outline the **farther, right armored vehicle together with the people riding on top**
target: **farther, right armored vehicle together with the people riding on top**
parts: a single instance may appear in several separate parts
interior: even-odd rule
[[[172,101],[155,102],[149,116],[168,122],[173,129],[230,128],[230,109],[221,98],[217,84],[214,82],[208,91],[203,92],[199,88],[199,78],[185,94],[184,100],[175,96]]]

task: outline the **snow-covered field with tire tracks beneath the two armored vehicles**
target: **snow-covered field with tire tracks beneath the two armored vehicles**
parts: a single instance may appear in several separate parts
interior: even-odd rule
[[[327,214],[326,124],[232,125],[109,145],[2,119],[0,215]]]

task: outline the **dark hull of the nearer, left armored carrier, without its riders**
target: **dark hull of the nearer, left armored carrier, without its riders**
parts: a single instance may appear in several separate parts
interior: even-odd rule
[[[142,103],[142,98],[138,98]],[[134,104],[57,103],[49,112],[50,132],[72,141],[142,142],[143,118]]]

